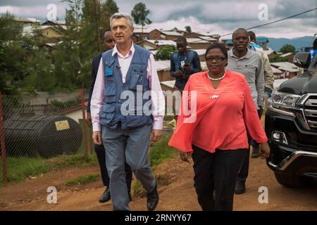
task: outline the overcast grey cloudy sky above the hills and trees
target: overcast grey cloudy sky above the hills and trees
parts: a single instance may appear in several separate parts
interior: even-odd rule
[[[104,0],[105,1],[105,0]],[[130,13],[133,6],[142,0],[116,0],[119,11]],[[142,1],[151,11],[153,21],[150,28],[184,30],[189,25],[193,32],[211,32],[228,34],[238,27],[254,27],[274,20],[308,11],[317,7],[316,0],[146,0]],[[21,17],[45,20],[47,5],[56,4],[57,16],[63,20],[67,4],[57,0],[0,0],[0,13],[9,11]],[[259,20],[263,8],[268,6],[268,20]],[[257,36],[266,37],[302,37],[317,33],[317,10],[265,27],[254,29]],[[223,37],[228,39],[231,36]]]

